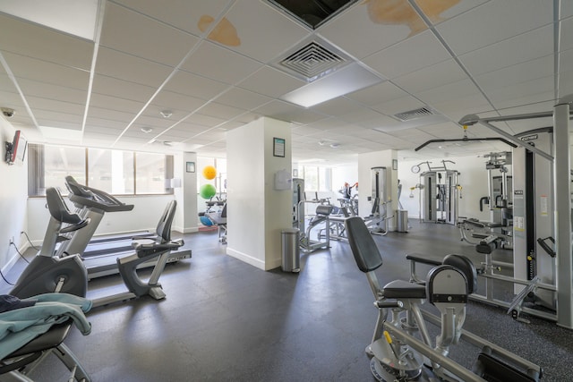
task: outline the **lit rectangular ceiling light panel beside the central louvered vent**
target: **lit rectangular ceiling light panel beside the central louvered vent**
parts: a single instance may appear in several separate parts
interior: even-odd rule
[[[348,64],[320,80],[286,93],[281,99],[298,106],[311,107],[353,91],[375,85],[382,80],[360,64]]]

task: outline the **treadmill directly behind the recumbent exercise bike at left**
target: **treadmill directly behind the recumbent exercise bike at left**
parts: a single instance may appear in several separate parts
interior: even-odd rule
[[[156,233],[130,233],[127,235],[113,235],[111,240],[98,238],[92,242],[101,219],[107,212],[131,211],[133,205],[125,204],[109,195],[105,191],[94,189],[77,183],[72,176],[66,176],[66,185],[70,191],[68,198],[81,212],[82,218],[90,218],[90,225],[74,232],[68,240],[61,242],[57,257],[81,254],[90,279],[118,273],[116,259],[133,254],[133,246],[137,243],[158,242],[161,240],[159,231],[165,226],[166,216],[169,216],[169,204],[159,219]],[[169,222],[170,225],[170,222]],[[181,259],[191,259],[191,250],[172,251],[167,263]],[[155,262],[142,263],[138,268],[154,267]]]

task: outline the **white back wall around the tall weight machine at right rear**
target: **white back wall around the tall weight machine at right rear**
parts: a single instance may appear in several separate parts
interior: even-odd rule
[[[488,174],[485,169],[487,158],[470,156],[470,157],[447,157],[445,160],[451,160],[455,164],[446,163],[447,168],[458,170],[460,173],[458,183],[462,186],[461,198],[458,199],[458,216],[475,217],[479,220],[489,221],[490,210],[488,205],[483,205],[483,211],[480,211],[480,198],[488,196]],[[432,167],[441,166],[441,159],[432,159]],[[414,198],[409,198],[410,187],[415,187],[420,183],[420,174],[428,170],[424,164],[421,165],[420,173],[414,174],[411,171],[412,166],[420,164],[420,160],[398,161],[398,179],[402,183],[402,196],[400,201],[402,207],[408,211],[408,216],[418,218],[420,216],[420,189],[412,191]]]

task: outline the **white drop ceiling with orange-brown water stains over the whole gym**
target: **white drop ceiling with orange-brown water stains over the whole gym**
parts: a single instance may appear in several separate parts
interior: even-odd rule
[[[336,166],[385,149],[447,157],[508,147],[414,149],[462,138],[464,115],[548,111],[573,93],[570,1],[364,0],[315,28],[264,0],[51,2],[61,19],[54,28],[76,19],[69,4],[95,10],[93,38],[9,14],[10,5],[41,3],[0,4],[0,106],[16,111],[9,122],[31,141],[225,157],[226,132],[269,116],[290,122],[302,163]],[[316,106],[284,100],[310,80],[277,63],[313,41],[379,81]],[[432,115],[398,118],[421,108]],[[497,125],[517,134],[547,123]],[[470,138],[491,136],[468,129]]]

